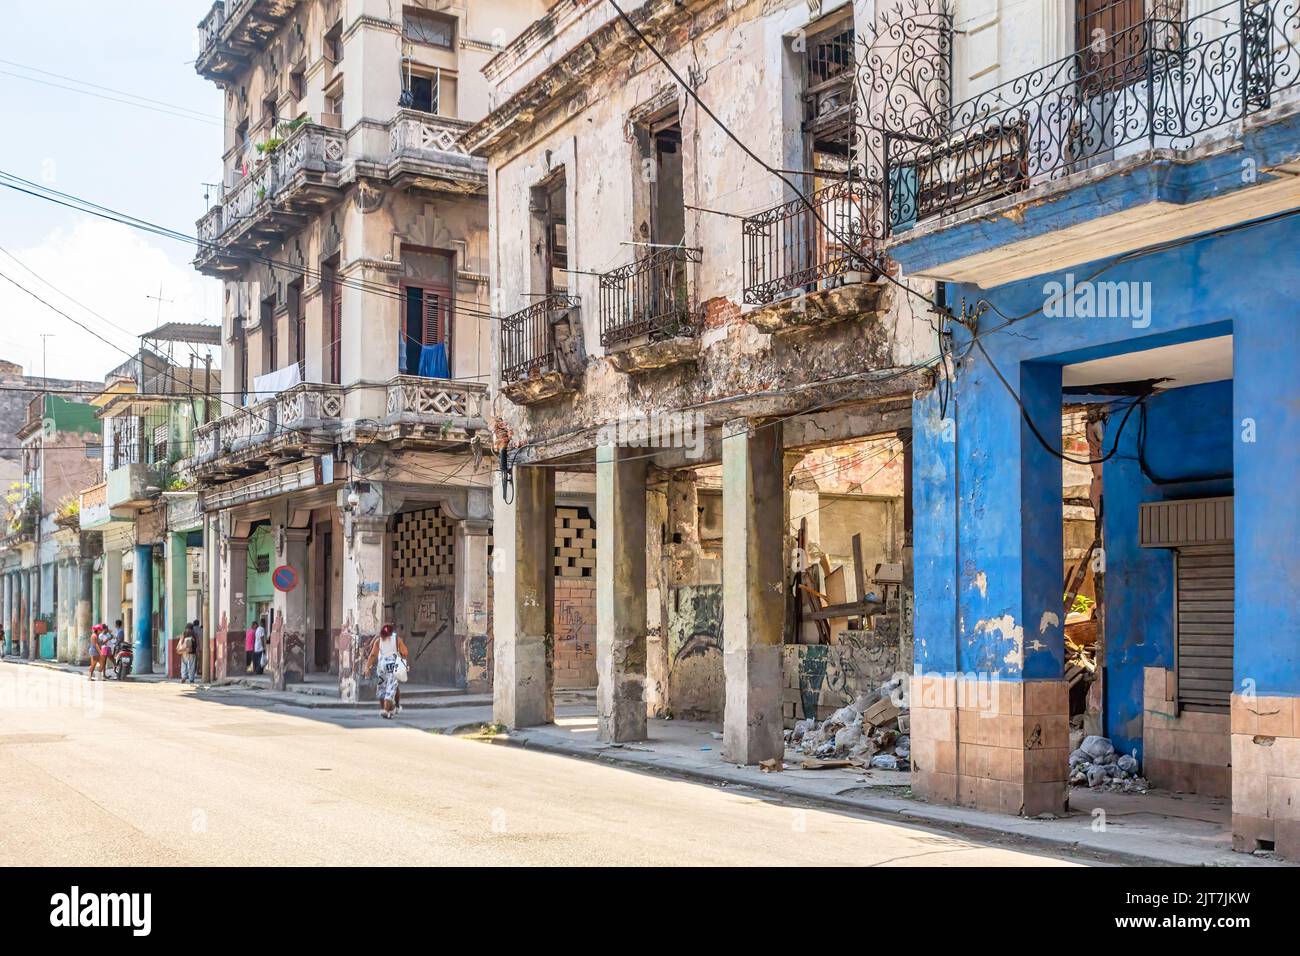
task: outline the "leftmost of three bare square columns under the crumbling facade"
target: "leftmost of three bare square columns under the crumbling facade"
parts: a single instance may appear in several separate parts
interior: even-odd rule
[[[555,719],[555,470],[515,468],[507,502],[494,477],[493,718],[507,727]]]

